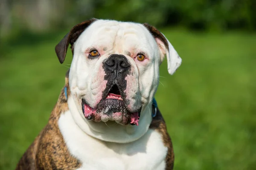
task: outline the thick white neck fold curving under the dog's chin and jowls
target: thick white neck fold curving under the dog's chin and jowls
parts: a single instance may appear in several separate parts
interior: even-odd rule
[[[76,124],[90,136],[100,139],[106,142],[116,142],[116,143],[128,143],[133,142],[143,136],[151,124],[152,117],[149,109],[144,109],[141,113],[140,123],[138,126],[133,125],[120,125],[116,123],[109,122],[93,122],[84,119],[79,113],[75,100],[73,96],[68,98],[68,106],[70,113],[76,122]],[[152,105],[148,105],[152,108]]]

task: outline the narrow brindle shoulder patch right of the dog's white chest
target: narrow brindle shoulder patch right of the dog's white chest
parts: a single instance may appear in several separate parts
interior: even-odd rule
[[[152,119],[152,122],[149,128],[156,130],[158,133],[160,133],[163,144],[168,148],[167,155],[166,155],[166,170],[172,170],[174,165],[174,152],[172,147],[172,140],[167,132],[166,123],[158,108],[157,108],[157,114]]]

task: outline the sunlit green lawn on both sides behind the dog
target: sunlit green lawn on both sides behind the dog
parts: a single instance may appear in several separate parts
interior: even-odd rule
[[[162,31],[183,59],[173,76],[163,62],[156,94],[175,170],[255,170],[256,34]],[[60,65],[54,52],[64,34],[1,48],[1,170],[14,169],[47,124],[72,59],[69,51]]]

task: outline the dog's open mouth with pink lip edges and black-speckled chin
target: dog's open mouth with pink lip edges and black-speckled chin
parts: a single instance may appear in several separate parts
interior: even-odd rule
[[[106,97],[103,97],[96,108],[91,108],[88,103],[82,99],[82,111],[84,117],[95,122],[115,121],[122,125],[139,125],[141,108],[136,112],[129,112],[125,98],[123,99],[118,85],[114,84]],[[105,99],[104,99],[105,98]]]

